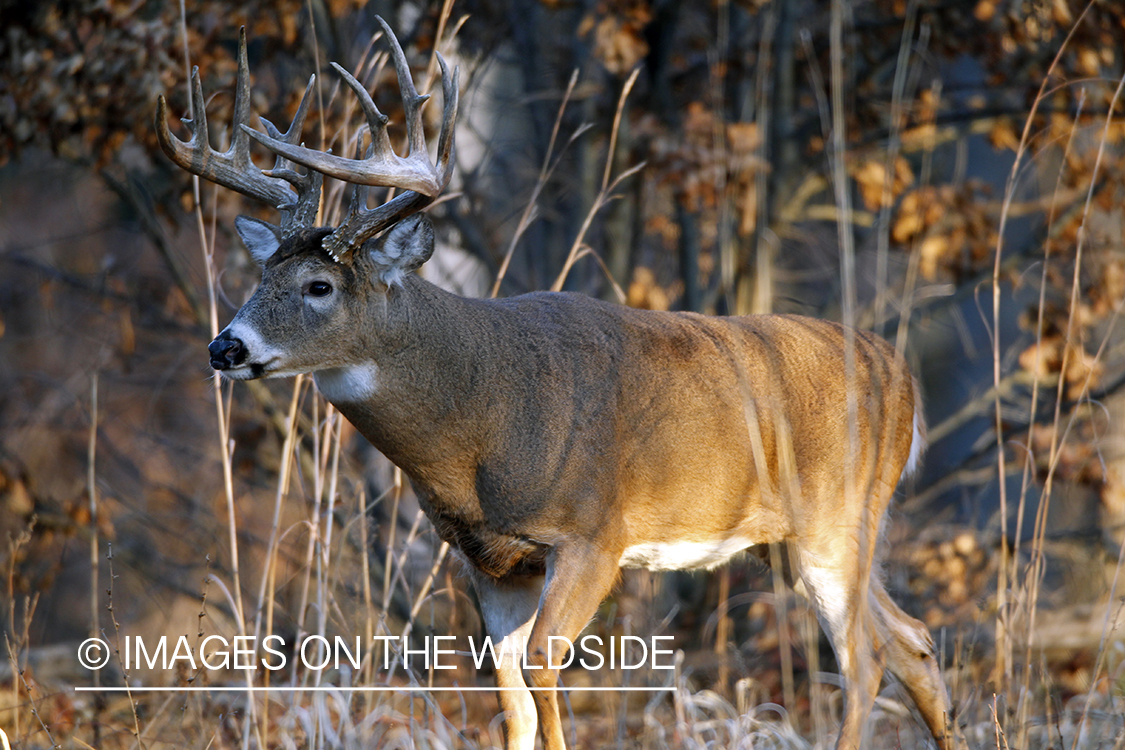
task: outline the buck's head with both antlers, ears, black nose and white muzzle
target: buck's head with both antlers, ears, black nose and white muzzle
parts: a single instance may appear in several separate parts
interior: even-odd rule
[[[230,148],[212,148],[198,69],[192,71],[191,118],[183,124],[191,138],[180,141],[168,126],[168,105],[158,102],[156,133],[164,153],[182,169],[212,182],[274,206],[281,224],[241,216],[238,236],[262,266],[258,291],[210,343],[212,365],[227,377],[245,380],[332,370],[354,362],[348,347],[324,346],[324,341],[349,341],[339,336],[354,327],[363,311],[372,308],[372,296],[402,286],[407,273],[429,260],[433,229],[420,210],[446,187],[453,170],[453,130],[457,120],[458,72],[441,66],[442,111],[436,163],[430,161],[422,126],[422,105],[406,56],[390,28],[381,19],[390,45],[406,114],[407,154],[399,156],[387,134],[388,118],[371,96],[348,71],[333,69],[356,93],[368,124],[370,143],[363,159],[343,159],[299,145],[308,111],[309,80],[289,129],[280,133],[261,118],[266,133],[249,127],[250,73],[246,36],[238,38],[238,74],[235,85],[234,128]],[[250,141],[274,154],[273,169],[259,170],[250,159]],[[299,171],[298,166],[304,166]],[[354,186],[351,205],[338,227],[316,227],[324,175]],[[397,197],[367,208],[368,186],[403,190]],[[386,236],[379,233],[394,227]],[[349,361],[349,358],[350,361]]]

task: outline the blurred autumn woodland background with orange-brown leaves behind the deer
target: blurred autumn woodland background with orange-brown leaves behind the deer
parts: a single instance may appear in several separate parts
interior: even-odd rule
[[[226,143],[241,26],[255,115],[287,125],[315,72],[306,144],[343,153],[359,118],[339,62],[400,125],[377,13],[420,90],[440,100],[435,48],[460,66],[426,278],[886,336],[930,435],[892,508],[886,576],[938,640],[965,741],[1117,737],[1125,8],[1077,0],[0,0],[0,726],[28,747],[150,731],[233,747],[256,721],[255,747],[321,747],[308,738],[375,708],[308,708],[308,724],[299,701],[256,715],[234,697],[94,699],[70,689],[94,679],[76,643],[263,617],[288,638],[480,632],[408,485],[309,382],[213,379],[206,344],[258,279],[233,219],[277,217],[206,183],[197,204],[153,127],[160,94],[187,116],[198,65]],[[326,189],[331,222],[345,191]],[[702,690],[776,703],[793,742],[830,744],[831,651],[756,563],[629,572],[594,627],[675,635],[669,706],[720,711]],[[498,742],[493,697],[449,699],[402,698],[378,731]],[[742,731],[700,720],[693,734],[663,710],[576,703],[568,731],[579,747],[726,747]]]

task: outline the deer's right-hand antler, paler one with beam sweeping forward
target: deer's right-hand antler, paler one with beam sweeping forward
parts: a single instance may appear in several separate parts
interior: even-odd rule
[[[386,115],[379,111],[371,96],[351,73],[335,63],[332,66],[356,92],[367,117],[371,133],[371,144],[364,159],[344,159],[310,148],[297,146],[292,141],[279,139],[274,134],[263,135],[245,125],[243,132],[267,148],[285,159],[304,164],[312,172],[327,174],[357,186],[381,186],[400,188],[406,192],[374,209],[366,207],[366,190],[353,190],[351,208],[344,223],[324,240],[324,249],[336,260],[346,259],[351,252],[376,236],[392,224],[415,214],[428,206],[449,183],[453,171],[453,124],[457,120],[458,70],[450,75],[446,61],[438,55],[441,65],[441,89],[444,100],[441,135],[438,138],[438,162],[430,162],[422,127],[422,105],[430,98],[420,96],[414,88],[406,55],[387,22],[376,16],[390,44],[402,91],[403,109],[406,112],[406,135],[408,152],[399,156],[390,147],[387,135]]]

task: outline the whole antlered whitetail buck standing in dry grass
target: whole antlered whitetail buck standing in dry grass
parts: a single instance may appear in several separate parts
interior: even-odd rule
[[[191,135],[158,100],[180,168],[276,207],[280,225],[235,228],[261,283],[208,345],[232,380],[310,373],[320,392],[410,478],[435,533],[464,562],[502,653],[507,750],[566,747],[550,636],[574,643],[621,569],[712,569],[766,544],[789,551],[845,688],[837,748],[864,747],[884,671],[943,749],[951,706],[929,631],[888,595],[876,546],[925,448],[918,387],[883,338],[795,315],[633,309],[573,292],[469,299],[415,271],[433,253],[425,209],[454,164],[459,79],[438,55],[443,109],[431,159],[398,40],[406,155],[363,84],[360,157],[306,148],[305,97],[286,133],[251,128],[241,33],[231,146],[209,143],[198,70]],[[260,170],[251,141],[276,156]],[[338,226],[318,227],[324,177],[352,184]],[[397,195],[368,207],[370,187]],[[555,656],[558,656],[556,642]],[[524,667],[526,667],[524,669]]]

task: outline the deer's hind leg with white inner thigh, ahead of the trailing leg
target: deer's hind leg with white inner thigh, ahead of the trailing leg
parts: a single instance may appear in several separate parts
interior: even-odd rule
[[[883,665],[875,645],[875,622],[860,586],[861,569],[852,548],[839,553],[816,553],[799,549],[798,572],[809,599],[828,634],[844,678],[844,722],[837,750],[860,750],[868,746],[867,716],[879,693]],[[870,567],[868,567],[870,570]],[[862,599],[862,600],[861,600]]]

